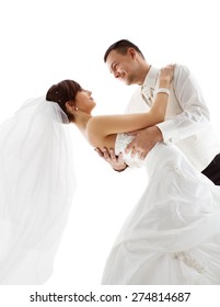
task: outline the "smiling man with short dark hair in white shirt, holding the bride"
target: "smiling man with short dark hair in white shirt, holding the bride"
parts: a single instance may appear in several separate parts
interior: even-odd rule
[[[153,101],[158,88],[159,69],[144,59],[143,54],[134,43],[121,39],[112,44],[105,55],[109,72],[127,86],[138,84],[127,107],[128,113],[146,112]],[[220,145],[209,121],[209,110],[195,78],[185,66],[176,65],[166,120],[153,127],[134,132],[135,139],[127,151],[144,159],[158,141],[175,144],[196,169],[220,185]],[[127,166],[114,149],[97,152],[116,171],[124,171]]]

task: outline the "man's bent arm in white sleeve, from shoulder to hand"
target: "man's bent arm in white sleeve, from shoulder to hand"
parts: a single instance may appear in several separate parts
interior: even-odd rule
[[[176,67],[174,91],[183,112],[157,126],[136,132],[136,138],[126,151],[144,158],[158,141],[175,144],[206,129],[209,111],[198,83],[186,67]]]

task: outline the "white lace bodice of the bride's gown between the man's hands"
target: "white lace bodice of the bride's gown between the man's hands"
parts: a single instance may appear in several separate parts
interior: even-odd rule
[[[124,160],[126,164],[134,168],[140,168],[143,166],[144,160],[138,158],[138,156],[131,157],[130,152],[126,154],[125,148],[126,146],[134,139],[134,136],[127,134],[118,134],[115,143],[115,154],[119,155],[123,154]]]

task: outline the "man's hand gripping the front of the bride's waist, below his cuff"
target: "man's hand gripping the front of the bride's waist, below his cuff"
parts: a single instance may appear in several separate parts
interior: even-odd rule
[[[144,159],[154,145],[163,140],[162,133],[157,126],[132,132],[129,135],[135,136],[135,138],[128,144],[125,151],[131,151],[132,157],[138,155],[140,159]]]

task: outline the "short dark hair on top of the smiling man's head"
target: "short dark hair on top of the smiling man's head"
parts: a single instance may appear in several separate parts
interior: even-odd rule
[[[138,46],[136,46],[134,43],[131,43],[128,39],[120,39],[120,41],[117,41],[116,43],[112,44],[107,48],[107,50],[105,52],[105,55],[104,55],[104,62],[106,62],[107,57],[112,50],[116,50],[117,53],[119,53],[121,55],[126,55],[128,48],[134,48],[137,53],[139,53],[142,56],[142,58],[144,58],[143,54],[138,48]]]

